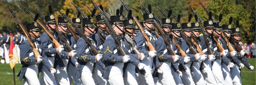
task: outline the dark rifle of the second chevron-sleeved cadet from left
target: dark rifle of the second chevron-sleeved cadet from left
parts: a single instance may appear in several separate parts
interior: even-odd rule
[[[57,8],[56,8],[57,9]],[[67,9],[69,10],[69,9]],[[61,13],[60,10],[57,9],[58,12]],[[96,10],[95,10],[96,11]],[[95,13],[95,12],[94,12]],[[64,17],[65,19],[67,19],[71,24],[72,26],[76,29],[76,31],[79,33],[79,35],[81,35],[81,37],[84,39],[84,41],[90,45],[90,50],[93,52],[94,55],[97,55],[99,54],[98,51],[93,47],[93,44],[91,43],[91,40],[90,39],[87,39],[87,37],[84,35],[84,33],[81,32],[81,30],[70,20],[69,17],[66,16],[66,14],[64,13],[61,13],[62,17]],[[93,16],[94,14],[92,14]]]

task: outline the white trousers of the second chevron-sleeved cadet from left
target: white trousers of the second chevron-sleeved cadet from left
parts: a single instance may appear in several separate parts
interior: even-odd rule
[[[93,63],[87,62],[81,73],[81,83],[83,85],[95,85],[93,80]]]

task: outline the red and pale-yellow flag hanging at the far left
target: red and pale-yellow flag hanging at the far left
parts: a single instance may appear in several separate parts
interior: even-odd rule
[[[18,54],[17,54],[17,51],[15,49],[15,45],[13,43],[13,40],[12,40],[12,33],[10,34],[10,49],[9,49],[9,57],[10,57],[10,66],[11,68],[14,68],[16,62],[19,61],[19,57],[18,57]]]

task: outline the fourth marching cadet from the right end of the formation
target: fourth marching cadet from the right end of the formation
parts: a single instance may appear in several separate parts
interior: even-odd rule
[[[213,41],[213,38],[212,38],[214,26],[213,26],[211,18],[212,18],[212,12],[209,13],[209,20],[204,22],[204,31],[206,32],[205,34],[207,34],[206,37],[207,37],[207,39],[209,39],[209,42],[204,41],[204,36],[200,36],[199,37],[200,39],[198,41],[200,42],[200,44],[202,46],[202,51],[209,58],[208,60],[204,61],[205,68],[203,71],[203,76],[205,78],[205,81],[208,84],[217,85],[217,82],[219,82],[219,80],[215,79],[216,75],[213,75],[212,69],[214,70],[214,69],[220,69],[220,68],[217,68],[217,66],[212,66],[212,61],[214,62],[214,60],[215,60],[216,62],[218,62],[218,61],[220,62],[221,56],[223,57],[223,56],[227,55],[227,50],[218,52],[216,43]],[[212,51],[212,55],[209,55],[209,53],[207,51],[206,43],[209,43],[209,47]],[[214,68],[212,68],[212,67],[214,67]],[[219,74],[222,74],[222,72]]]

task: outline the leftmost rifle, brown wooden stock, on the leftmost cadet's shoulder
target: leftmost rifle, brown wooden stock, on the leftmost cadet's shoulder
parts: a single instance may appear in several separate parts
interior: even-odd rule
[[[7,6],[7,7],[9,8],[9,6]],[[9,8],[9,10],[11,11],[12,16],[17,18],[17,21],[18,21],[18,23],[19,23],[19,26],[20,26],[20,28],[22,29],[22,31],[25,33],[25,35],[26,35],[26,37],[27,37],[27,40],[29,41],[29,44],[32,46],[33,52],[34,52],[34,54],[35,54],[35,59],[37,60],[37,57],[40,56],[40,54],[39,54],[39,52],[38,52],[38,51],[36,50],[36,48],[35,48],[35,43],[32,42],[32,37],[29,36],[28,31],[27,31],[26,28],[23,26],[23,24],[20,22],[19,18],[16,16],[16,14],[14,13],[14,11],[11,10],[10,8]],[[35,18],[34,21],[37,20],[37,19],[38,19],[38,17]]]

